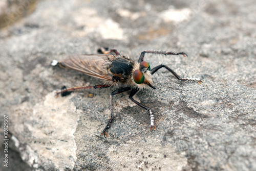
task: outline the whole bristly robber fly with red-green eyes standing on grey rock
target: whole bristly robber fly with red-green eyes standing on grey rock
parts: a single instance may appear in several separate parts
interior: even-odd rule
[[[60,91],[56,92],[56,96],[59,94],[61,96],[66,96],[73,91],[83,90],[83,89],[91,89],[91,88],[107,88],[114,87],[116,90],[113,91],[110,95],[110,111],[111,118],[103,129],[101,135],[108,137],[107,130],[110,128],[110,125],[114,119],[113,112],[113,95],[122,93],[125,91],[129,91],[129,98],[138,106],[146,109],[148,114],[150,115],[150,130],[155,130],[156,127],[154,125],[154,115],[151,111],[151,108],[142,105],[133,99],[133,96],[140,89],[156,89],[153,85],[153,81],[151,79],[151,75],[155,74],[160,68],[166,68],[170,71],[178,80],[185,81],[197,81],[199,84],[202,84],[203,81],[198,78],[181,78],[176,74],[176,72],[169,68],[166,65],[158,65],[154,68],[150,67],[150,64],[144,61],[145,53],[150,54],[162,54],[162,55],[183,55],[186,57],[187,55],[183,52],[174,53],[174,52],[163,52],[163,51],[143,51],[139,57],[139,61],[135,62],[132,59],[123,56],[117,52],[117,50],[109,50],[108,48],[101,47],[98,50],[99,53],[97,55],[70,55],[62,62],[57,62],[54,60],[51,65],[59,66],[63,68],[73,69],[80,72],[83,72],[86,75],[92,76],[94,78],[100,79],[103,81],[103,84],[96,86],[84,86],[84,87],[74,87],[74,88],[66,88],[62,87]]]

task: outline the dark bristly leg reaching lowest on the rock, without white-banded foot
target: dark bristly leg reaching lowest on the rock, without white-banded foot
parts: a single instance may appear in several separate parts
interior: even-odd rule
[[[109,123],[108,125],[106,125],[106,127],[104,128],[104,130],[102,131],[101,135],[104,135],[104,137],[108,137],[108,133],[106,133],[106,130],[108,130],[110,128],[110,125],[114,119],[114,112],[113,112],[113,95],[115,94],[118,94],[118,93],[122,93],[124,91],[129,91],[131,90],[130,87],[124,87],[124,88],[120,88],[120,89],[117,89],[115,91],[113,91],[111,94],[110,94],[110,113],[111,113],[111,118],[109,120]]]

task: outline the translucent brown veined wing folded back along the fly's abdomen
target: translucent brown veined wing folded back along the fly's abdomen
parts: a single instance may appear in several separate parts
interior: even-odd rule
[[[69,55],[60,62],[60,66],[68,69],[83,72],[101,80],[112,81],[107,71],[104,71],[104,63],[108,58],[115,58],[113,55]]]

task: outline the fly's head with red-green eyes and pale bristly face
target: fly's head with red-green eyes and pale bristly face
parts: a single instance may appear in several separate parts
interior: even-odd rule
[[[135,65],[133,69],[133,81],[139,88],[147,88],[150,86],[151,88],[156,89],[153,86],[153,81],[151,79],[150,64],[145,61]]]

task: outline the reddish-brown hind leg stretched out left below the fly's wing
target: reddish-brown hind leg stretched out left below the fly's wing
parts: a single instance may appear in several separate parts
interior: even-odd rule
[[[66,86],[63,86],[60,91],[56,92],[55,97],[58,97],[60,94],[62,97],[69,95],[73,91],[79,91],[84,89],[92,89],[92,88],[108,88],[110,85],[96,85],[96,86],[82,86],[82,87],[73,87],[73,88],[67,88]]]

